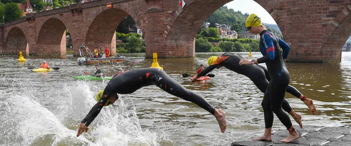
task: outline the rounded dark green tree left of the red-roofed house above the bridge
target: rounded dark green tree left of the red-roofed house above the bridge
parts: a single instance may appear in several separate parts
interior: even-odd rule
[[[20,19],[22,17],[22,10],[17,3],[6,3],[4,6],[5,22]]]

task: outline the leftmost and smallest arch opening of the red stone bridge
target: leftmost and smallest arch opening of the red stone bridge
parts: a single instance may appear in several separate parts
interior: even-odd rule
[[[5,39],[5,48],[4,52],[7,54],[18,54],[22,52],[23,54],[29,54],[29,46],[27,38],[24,32],[18,28],[13,27],[7,33]]]

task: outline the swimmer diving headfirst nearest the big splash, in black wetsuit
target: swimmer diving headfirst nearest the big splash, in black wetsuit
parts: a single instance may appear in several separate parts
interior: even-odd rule
[[[88,126],[93,122],[95,117],[98,116],[100,110],[104,106],[114,104],[119,98],[118,94],[131,94],[142,87],[150,85],[155,85],[171,95],[193,102],[207,110],[217,119],[220,131],[222,133],[225,131],[226,120],[224,111],[212,107],[203,97],[184,88],[163,70],[151,67],[127,70],[115,75],[110,82],[108,82],[105,89],[98,92],[98,102],[79,124],[77,137],[80,136],[81,133],[88,131]]]

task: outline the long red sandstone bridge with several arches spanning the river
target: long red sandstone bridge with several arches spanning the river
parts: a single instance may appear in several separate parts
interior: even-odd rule
[[[115,30],[131,15],[145,37],[146,57],[194,57],[201,24],[232,0],[99,0],[27,14],[0,24],[0,53],[66,54],[65,29],[74,55],[79,46],[108,46],[115,53]],[[255,0],[267,10],[291,46],[290,61],[340,61],[351,35],[351,0]],[[107,9],[106,4],[112,3]],[[248,6],[250,8],[250,6]],[[258,14],[259,15],[259,14]]]

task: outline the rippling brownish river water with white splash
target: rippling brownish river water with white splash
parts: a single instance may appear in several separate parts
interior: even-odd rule
[[[101,110],[88,133],[76,137],[80,121],[96,103],[96,93],[107,81],[81,81],[83,71],[95,72],[93,65],[79,66],[77,57],[1,56],[0,62],[0,145],[115,145],[115,146],[213,146],[230,145],[264,132],[263,93],[246,76],[222,67],[205,82],[190,82],[181,74],[195,74],[207,58],[220,53],[196,53],[194,58],[159,58],[164,71],[187,89],[202,95],[215,108],[226,112],[227,130],[221,133],[214,116],[196,104],[148,86],[133,94],[122,95],[115,105]],[[247,58],[247,52],[239,52]],[[143,59],[145,53],[126,54],[126,61],[101,65],[113,76],[128,64]],[[252,58],[261,54],[254,52]],[[46,60],[51,67],[45,73],[32,73],[29,65],[40,66]],[[150,67],[152,58],[126,68]],[[351,125],[351,52],[342,52],[342,61],[333,63],[287,63],[291,84],[312,98],[317,115],[311,115],[298,98],[286,94],[291,107],[302,114],[304,125]],[[292,119],[292,118],[291,118]],[[292,122],[297,125],[296,122]],[[275,116],[273,130],[285,127]]]

